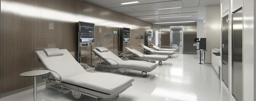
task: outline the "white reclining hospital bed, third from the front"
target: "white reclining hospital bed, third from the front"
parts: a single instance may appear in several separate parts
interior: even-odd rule
[[[162,61],[165,61],[169,58],[166,55],[152,55],[152,54],[143,54],[136,49],[131,49],[129,47],[125,47],[126,50],[132,52],[132,55],[127,56],[130,60],[146,60],[148,62],[153,62],[154,60],[159,60],[158,64],[161,64]]]

